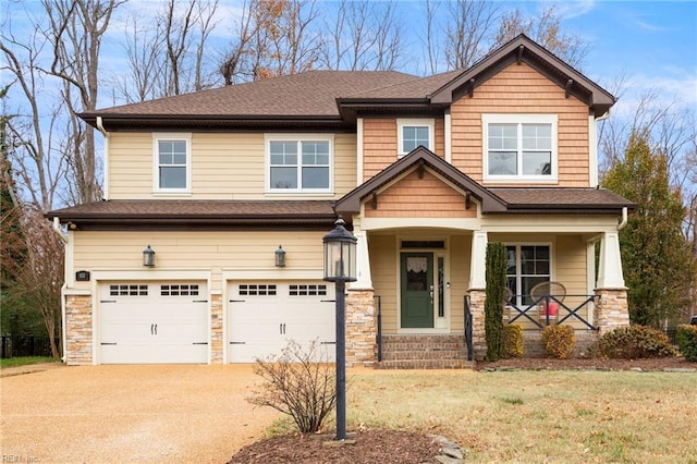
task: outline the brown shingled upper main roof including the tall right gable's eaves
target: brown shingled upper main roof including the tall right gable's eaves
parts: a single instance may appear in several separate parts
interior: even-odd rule
[[[395,71],[308,71],[81,113],[108,131],[195,129],[355,130],[362,111],[430,114],[443,111],[513,63],[527,63],[579,98],[596,115],[615,99],[561,59],[519,35],[468,70],[427,77]]]

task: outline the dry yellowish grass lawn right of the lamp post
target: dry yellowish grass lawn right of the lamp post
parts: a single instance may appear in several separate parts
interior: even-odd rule
[[[467,462],[697,463],[697,374],[350,369],[347,378],[348,429],[442,435]]]

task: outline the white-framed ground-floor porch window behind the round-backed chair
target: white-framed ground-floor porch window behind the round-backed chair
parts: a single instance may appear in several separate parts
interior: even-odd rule
[[[506,281],[517,296],[516,304],[533,303],[530,289],[551,280],[551,253],[549,245],[508,245]]]

